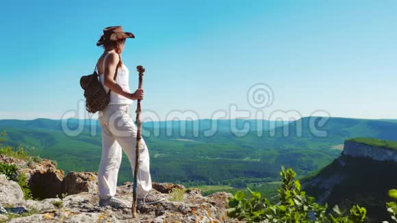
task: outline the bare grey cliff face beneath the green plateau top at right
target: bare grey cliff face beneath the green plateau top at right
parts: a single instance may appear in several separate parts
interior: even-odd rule
[[[342,155],[370,158],[376,161],[394,161],[397,163],[397,151],[359,142],[346,141]]]

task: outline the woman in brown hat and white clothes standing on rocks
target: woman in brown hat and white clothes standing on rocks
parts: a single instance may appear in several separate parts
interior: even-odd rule
[[[135,37],[129,32],[124,32],[120,26],[107,27],[103,29],[103,36],[97,42],[97,46],[103,46],[104,49],[97,63],[99,80],[107,92],[111,91],[109,105],[99,112],[99,123],[102,127],[102,157],[99,165],[98,189],[99,206],[102,207],[122,206],[122,202],[115,197],[122,148],[132,169],[135,168],[136,161],[137,129],[129,116],[129,106],[133,100],[143,99],[144,94],[142,89],[133,93],[129,90],[129,70],[120,56],[126,38]],[[143,139],[140,145],[138,205],[153,204],[164,198],[153,192],[148,148]]]

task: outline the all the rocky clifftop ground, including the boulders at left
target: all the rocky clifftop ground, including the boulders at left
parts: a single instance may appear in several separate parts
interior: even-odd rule
[[[48,165],[48,161],[44,160],[46,162]],[[18,166],[21,169],[26,168],[26,163],[19,163]],[[36,168],[37,166],[40,165],[36,165]],[[42,166],[38,169],[42,174],[47,174]],[[47,169],[57,173],[56,176],[60,175],[53,166]],[[31,176],[40,171],[31,168],[29,171],[24,170],[33,173]],[[52,175],[47,182],[44,181],[45,178],[41,179],[43,182],[40,182],[40,196],[54,193],[54,188],[51,188],[54,184],[50,182]],[[37,177],[40,179],[40,176]],[[99,207],[96,182],[97,175],[94,173],[71,172],[60,184],[57,183],[60,185],[60,192],[71,195],[24,200],[21,187],[6,179],[5,175],[0,175],[0,222],[231,222],[226,217],[225,207],[227,198],[232,195],[225,192],[202,196],[199,189],[185,189],[182,185],[170,183],[153,183],[155,192],[166,197],[166,201],[139,207],[138,218],[133,219],[131,183],[127,182],[117,188],[116,196],[125,204],[123,207],[114,208]],[[48,185],[51,193],[46,193],[45,185]],[[174,188],[177,188],[179,194],[172,192]]]

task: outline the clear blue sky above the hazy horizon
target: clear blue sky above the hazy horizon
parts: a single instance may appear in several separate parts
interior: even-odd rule
[[[123,25],[131,89],[146,67],[143,108],[160,120],[211,118],[266,83],[262,109],[397,118],[397,1],[2,1],[0,119],[81,110],[103,27]],[[134,107],[134,106],[133,106]],[[229,112],[228,118],[240,118]]]

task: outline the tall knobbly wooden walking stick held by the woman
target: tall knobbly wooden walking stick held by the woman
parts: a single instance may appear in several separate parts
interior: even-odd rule
[[[143,74],[144,74],[144,68],[143,66],[137,66],[136,70],[138,70],[138,75],[139,75],[139,83],[138,83],[138,89],[142,88],[142,82],[143,82]],[[137,205],[137,189],[138,189],[138,170],[139,170],[139,156],[140,156],[140,140],[142,139],[141,135],[141,129],[142,129],[142,122],[140,120],[140,99],[138,99],[138,103],[136,105],[136,125],[138,127],[138,131],[136,133],[136,159],[135,159],[135,170],[133,171],[133,192],[132,192],[132,197],[133,197],[133,202],[132,202],[132,207],[131,207],[131,212],[132,212],[132,218],[136,218],[136,205]]]

